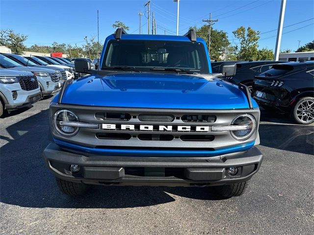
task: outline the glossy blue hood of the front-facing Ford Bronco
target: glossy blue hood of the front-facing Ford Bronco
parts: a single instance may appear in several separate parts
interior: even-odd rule
[[[54,102],[57,96],[54,97]],[[233,84],[185,74],[119,73],[91,75],[66,88],[62,103],[164,109],[247,109]],[[258,107],[253,102],[254,107]]]

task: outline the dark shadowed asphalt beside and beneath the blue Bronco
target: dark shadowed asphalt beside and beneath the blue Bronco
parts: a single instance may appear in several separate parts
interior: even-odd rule
[[[211,188],[93,187],[73,199],[59,192],[42,152],[48,144],[49,111],[25,118],[7,128],[11,138],[0,149],[0,201],[30,208],[133,208],[175,201],[178,195],[218,200]],[[313,154],[313,126],[262,124],[261,144]]]

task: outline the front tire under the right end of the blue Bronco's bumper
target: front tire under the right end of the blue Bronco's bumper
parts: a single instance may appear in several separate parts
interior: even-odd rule
[[[247,185],[248,182],[244,181],[232,185],[216,186],[215,191],[216,194],[218,194],[222,198],[237,197],[245,192]]]

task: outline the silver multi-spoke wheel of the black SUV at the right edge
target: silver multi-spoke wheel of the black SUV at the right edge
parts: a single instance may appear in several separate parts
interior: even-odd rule
[[[314,121],[314,97],[303,97],[292,110],[293,119],[299,124],[310,124]]]

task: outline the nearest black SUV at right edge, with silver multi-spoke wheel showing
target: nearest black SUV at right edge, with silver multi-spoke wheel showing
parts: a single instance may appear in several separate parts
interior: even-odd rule
[[[274,65],[255,78],[252,96],[263,108],[290,113],[300,124],[314,121],[314,61]]]

